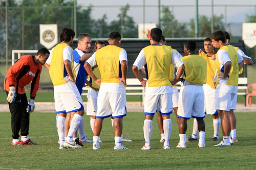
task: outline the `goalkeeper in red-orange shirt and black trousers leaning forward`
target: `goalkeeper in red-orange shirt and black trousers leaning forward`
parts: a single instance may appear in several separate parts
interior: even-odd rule
[[[4,89],[11,112],[12,145],[37,144],[28,138],[29,117],[35,109],[34,100],[39,88],[42,65],[45,64],[49,54],[46,48],[40,48],[35,56],[22,56],[7,70]],[[28,103],[24,87],[30,83]],[[19,131],[22,135],[21,140],[19,140]]]

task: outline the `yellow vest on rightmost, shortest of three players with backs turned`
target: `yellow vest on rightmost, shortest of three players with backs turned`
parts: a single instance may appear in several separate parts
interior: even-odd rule
[[[185,73],[183,79],[190,83],[205,84],[207,62],[199,55],[193,54],[181,58],[185,65]]]

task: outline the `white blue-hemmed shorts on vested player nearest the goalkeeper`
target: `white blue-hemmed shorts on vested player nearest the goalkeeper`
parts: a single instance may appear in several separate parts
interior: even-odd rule
[[[56,113],[70,113],[84,110],[82,98],[79,91],[73,92],[54,92]]]

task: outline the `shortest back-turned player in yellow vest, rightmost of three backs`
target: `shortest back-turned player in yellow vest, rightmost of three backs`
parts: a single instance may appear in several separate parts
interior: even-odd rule
[[[186,56],[181,60],[185,65],[182,88],[179,96],[179,136],[180,141],[176,148],[186,148],[187,119],[194,117],[198,122],[199,142],[198,147],[205,147],[205,124],[204,124],[204,91],[206,83],[206,60],[195,54],[195,41],[187,41],[184,45]]]

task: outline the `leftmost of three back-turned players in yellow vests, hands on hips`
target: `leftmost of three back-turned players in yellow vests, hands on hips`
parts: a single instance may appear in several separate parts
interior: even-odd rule
[[[121,35],[118,32],[110,33],[109,45],[97,50],[86,61],[84,68],[89,76],[100,85],[97,113],[94,123],[93,150],[100,149],[99,135],[105,117],[114,118],[115,147],[114,150],[127,149],[121,143],[122,119],[126,116],[126,78],[127,78],[127,53],[119,47]],[[101,79],[98,79],[91,67],[98,65]]]

